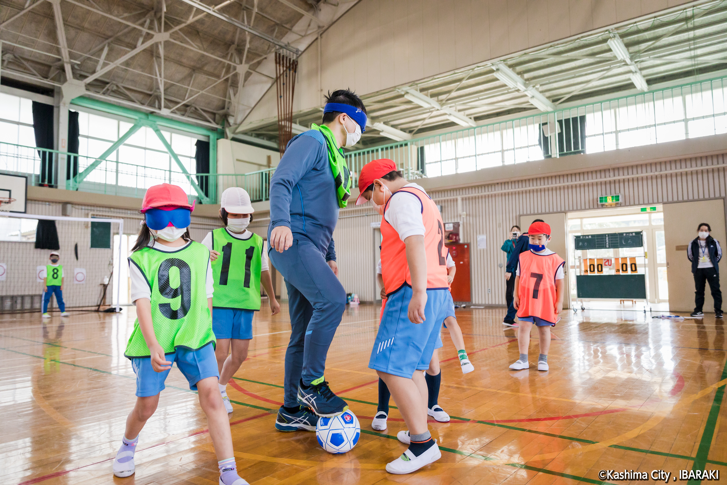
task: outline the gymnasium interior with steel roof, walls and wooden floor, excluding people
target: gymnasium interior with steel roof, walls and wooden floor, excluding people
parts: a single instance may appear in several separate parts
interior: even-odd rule
[[[388,428],[371,428],[382,216],[349,203],[333,239],[350,303],[326,380],[361,438],[331,454],[316,433],[274,428],[291,318],[271,267],[281,313],[270,316],[263,291],[248,358],[228,385],[240,476],[721,478],[725,324],[712,286],[704,315],[691,316],[688,256],[702,223],[727,244],[726,49],[726,0],[0,0],[0,482],[218,483],[206,418],[174,369],[134,475],[111,471],[135,400],[127,257],[142,198],[152,185],[182,187],[202,241],[223,227],[222,192],[244,188],[248,228],[267,240],[286,143],[321,123],[326,93],[347,88],[368,116],[345,149],[350,201],[377,159],[435,201],[475,370],[461,372],[443,329],[438,402],[451,420],[429,420],[442,457],[387,473],[406,425],[392,401]],[[526,233],[536,219],[566,262],[566,297],[550,369],[513,371],[502,248],[513,226]],[[52,299],[41,318],[52,251],[69,315]],[[531,361],[537,345],[534,332]]]

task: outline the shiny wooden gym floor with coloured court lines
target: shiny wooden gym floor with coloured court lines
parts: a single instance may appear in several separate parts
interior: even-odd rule
[[[443,331],[439,404],[452,420],[430,424],[442,458],[412,475],[390,475],[384,466],[405,449],[395,438],[404,425],[392,409],[389,428],[371,430],[377,377],[366,365],[378,310],[348,308],[329,352],[326,378],[362,428],[343,455],[324,452],[315,433],[273,428],[288,316],[285,305],[276,318],[256,314],[250,357],[228,386],[238,469],[251,484],[600,484],[599,470],[624,469],[726,476],[723,321],[563,312],[550,372],[510,371],[518,346],[515,330],[500,323],[502,309],[457,312],[470,374],[460,372]],[[177,369],[141,433],[136,474],[113,477],[135,399],[123,356],[133,321],[133,308],[120,316],[72,312],[47,324],[39,313],[0,316],[2,484],[217,484],[204,414]],[[534,338],[531,362],[537,353]],[[614,482],[628,483],[603,483]]]

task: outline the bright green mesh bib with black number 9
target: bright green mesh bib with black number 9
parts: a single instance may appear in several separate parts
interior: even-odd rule
[[[192,241],[173,252],[145,247],[133,252],[129,261],[141,270],[151,289],[151,320],[164,353],[174,353],[177,347],[197,350],[209,342],[214,345],[206,291],[209,250],[205,246]],[[149,355],[137,318],[124,356]]]

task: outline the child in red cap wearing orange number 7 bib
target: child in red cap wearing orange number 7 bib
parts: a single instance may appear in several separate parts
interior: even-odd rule
[[[515,272],[513,305],[518,310],[518,348],[520,358],[510,369],[528,369],[530,330],[538,327],[540,355],[538,370],[547,371],[547,353],[550,350],[550,327],[558,323],[563,311],[563,258],[547,249],[550,225],[532,223],[528,229],[530,250],[520,254]]]

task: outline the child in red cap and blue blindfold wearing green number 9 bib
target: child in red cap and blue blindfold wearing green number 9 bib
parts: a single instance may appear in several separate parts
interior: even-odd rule
[[[113,474],[134,473],[139,433],[156,411],[159,393],[176,362],[189,388],[198,391],[207,415],[220,485],[246,485],[237,474],[230,422],[217,387],[212,268],[209,249],[192,241],[189,234],[193,210],[182,188],[168,183],[148,188],[142,202],[144,221],[129,257],[137,320],[124,351],[137,374],[137,402],[126,418]]]

